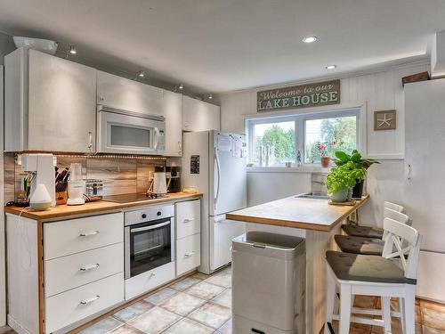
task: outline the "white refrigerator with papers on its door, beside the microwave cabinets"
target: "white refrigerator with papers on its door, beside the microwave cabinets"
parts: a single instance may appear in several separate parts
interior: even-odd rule
[[[231,240],[246,231],[225,214],[247,205],[247,142],[244,134],[203,131],[183,134],[182,185],[204,193],[201,273],[231,262]]]

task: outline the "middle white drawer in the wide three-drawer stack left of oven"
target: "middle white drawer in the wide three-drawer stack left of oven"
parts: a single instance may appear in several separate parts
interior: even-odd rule
[[[51,297],[124,271],[124,244],[44,261],[44,295]]]

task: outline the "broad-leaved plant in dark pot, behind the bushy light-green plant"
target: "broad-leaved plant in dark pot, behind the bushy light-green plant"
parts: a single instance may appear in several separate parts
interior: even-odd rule
[[[363,195],[363,184],[365,183],[368,168],[380,163],[376,159],[363,158],[357,150],[352,151],[351,155],[344,151],[336,151],[336,159],[333,160],[337,167],[352,162],[354,169],[357,170],[357,182],[352,189],[353,198],[360,198]]]

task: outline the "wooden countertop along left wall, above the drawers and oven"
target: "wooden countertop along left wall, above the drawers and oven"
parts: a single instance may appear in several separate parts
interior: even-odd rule
[[[85,203],[80,206],[58,205],[55,208],[48,208],[44,211],[34,211],[32,209],[5,207],[4,212],[20,215],[29,219],[34,219],[40,222],[48,222],[61,220],[66,218],[75,218],[79,216],[93,216],[108,212],[122,211],[127,208],[146,207],[158,204],[174,203],[182,200],[194,200],[202,197],[202,193],[185,193],[175,192],[168,194],[168,197],[156,200],[142,200],[129,203],[115,203],[106,200],[98,200]]]

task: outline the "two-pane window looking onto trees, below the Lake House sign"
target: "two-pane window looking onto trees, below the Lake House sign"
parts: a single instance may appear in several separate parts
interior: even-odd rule
[[[351,152],[359,141],[360,110],[247,120],[249,162],[254,166],[284,166],[295,163],[300,153],[306,164],[319,164],[325,154]]]

